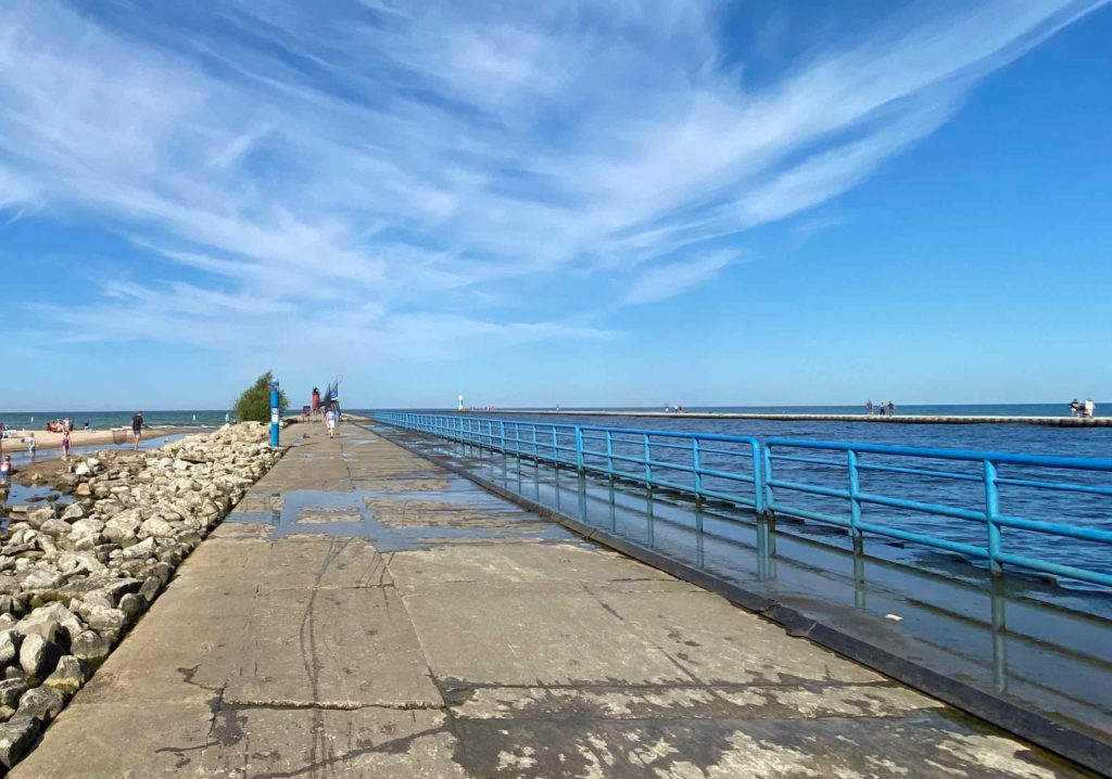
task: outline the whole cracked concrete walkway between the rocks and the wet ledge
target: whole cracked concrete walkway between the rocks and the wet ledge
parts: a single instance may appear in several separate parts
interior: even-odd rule
[[[373,433],[287,435],[12,777],[1079,776]]]

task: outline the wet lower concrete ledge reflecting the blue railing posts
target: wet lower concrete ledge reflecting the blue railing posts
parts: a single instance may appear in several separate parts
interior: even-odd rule
[[[399,435],[394,430],[391,436]],[[1023,575],[993,578],[955,557],[843,532],[754,521],[628,482],[583,478],[476,447],[401,432],[512,492],[1112,742],[1112,599]],[[900,617],[900,621],[887,619]]]

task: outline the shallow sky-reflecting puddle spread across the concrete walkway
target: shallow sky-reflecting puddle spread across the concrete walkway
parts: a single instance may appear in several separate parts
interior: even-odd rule
[[[249,495],[225,521],[267,525],[276,539],[299,533],[366,538],[379,552],[441,543],[578,542],[560,526],[522,511],[466,480],[435,480],[447,482],[447,489],[428,489],[437,486],[429,481],[387,482],[384,489],[374,490]]]

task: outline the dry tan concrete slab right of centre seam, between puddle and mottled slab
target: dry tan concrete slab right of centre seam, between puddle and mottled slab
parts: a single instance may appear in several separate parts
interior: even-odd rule
[[[433,672],[476,686],[881,679],[706,592],[544,595],[458,583],[404,600]]]

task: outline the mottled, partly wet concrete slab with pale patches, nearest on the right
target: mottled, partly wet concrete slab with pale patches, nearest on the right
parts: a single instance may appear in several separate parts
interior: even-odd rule
[[[456,733],[459,760],[478,777],[1074,776],[1010,739],[936,711],[895,719],[460,720]]]

